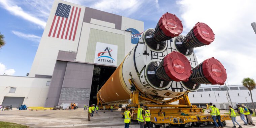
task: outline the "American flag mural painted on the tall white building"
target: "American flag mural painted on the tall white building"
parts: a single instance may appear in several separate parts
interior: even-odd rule
[[[59,3],[48,36],[75,40],[81,8]]]

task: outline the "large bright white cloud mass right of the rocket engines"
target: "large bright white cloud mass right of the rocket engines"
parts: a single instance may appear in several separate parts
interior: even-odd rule
[[[209,25],[215,41],[195,48],[199,63],[215,57],[226,68],[228,83],[241,84],[244,77],[256,79],[256,36],[251,23],[256,21],[256,1],[238,0],[181,0],[177,2],[182,13],[184,35],[197,23]]]

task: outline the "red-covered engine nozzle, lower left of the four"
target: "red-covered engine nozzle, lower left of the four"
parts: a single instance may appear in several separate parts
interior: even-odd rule
[[[175,51],[165,56],[156,68],[156,76],[166,81],[188,81],[191,72],[187,57]]]

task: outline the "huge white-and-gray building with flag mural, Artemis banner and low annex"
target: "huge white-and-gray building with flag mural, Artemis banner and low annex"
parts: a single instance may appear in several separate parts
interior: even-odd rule
[[[0,76],[0,104],[96,103],[143,31],[141,21],[55,0],[28,77]]]

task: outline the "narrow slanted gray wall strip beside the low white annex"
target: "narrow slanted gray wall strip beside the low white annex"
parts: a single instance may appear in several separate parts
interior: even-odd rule
[[[47,99],[45,102],[45,107],[53,107],[55,105],[58,105],[61,88],[66,72],[67,62],[65,61],[56,61],[51,85],[49,88],[49,92],[47,95]]]

